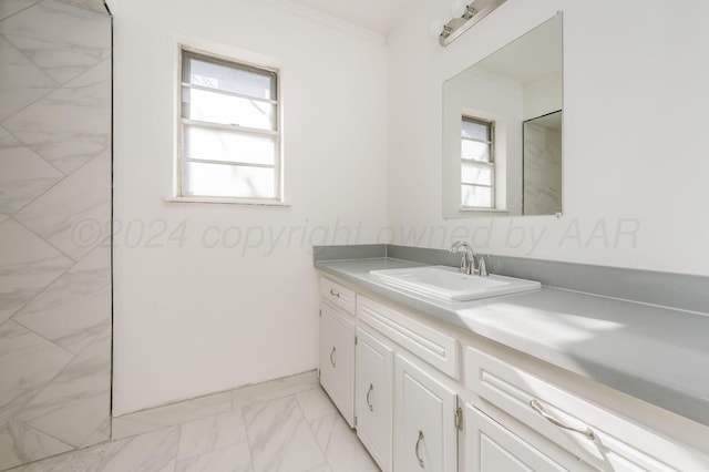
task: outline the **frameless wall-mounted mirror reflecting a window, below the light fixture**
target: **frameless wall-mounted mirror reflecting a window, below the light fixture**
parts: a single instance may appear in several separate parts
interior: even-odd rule
[[[562,14],[443,84],[443,216],[562,212]]]

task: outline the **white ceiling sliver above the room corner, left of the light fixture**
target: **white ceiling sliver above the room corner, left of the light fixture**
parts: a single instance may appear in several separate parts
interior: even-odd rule
[[[421,0],[288,0],[386,37],[407,10]]]

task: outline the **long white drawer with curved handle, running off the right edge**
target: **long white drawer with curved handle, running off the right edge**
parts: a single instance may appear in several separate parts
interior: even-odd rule
[[[483,399],[600,470],[709,470],[708,458],[474,348],[466,383]],[[633,444],[633,445],[631,445]]]

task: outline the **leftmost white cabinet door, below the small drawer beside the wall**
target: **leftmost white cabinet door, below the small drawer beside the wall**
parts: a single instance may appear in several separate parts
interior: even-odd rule
[[[320,308],[320,384],[345,420],[354,423],[354,322],[348,315]]]

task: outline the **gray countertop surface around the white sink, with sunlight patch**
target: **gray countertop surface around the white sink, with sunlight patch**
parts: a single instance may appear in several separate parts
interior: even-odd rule
[[[387,286],[392,258],[321,260],[342,280],[709,425],[709,316],[557,288],[451,302]]]

